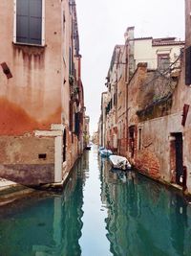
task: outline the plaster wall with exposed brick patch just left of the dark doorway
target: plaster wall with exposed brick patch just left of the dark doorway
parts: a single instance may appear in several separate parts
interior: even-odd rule
[[[139,123],[142,145],[136,158],[141,172],[154,178],[171,181],[170,133],[181,132],[181,113]]]

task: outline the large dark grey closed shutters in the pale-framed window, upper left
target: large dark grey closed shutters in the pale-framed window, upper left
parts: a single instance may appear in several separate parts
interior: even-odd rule
[[[42,0],[16,1],[16,42],[42,44]]]

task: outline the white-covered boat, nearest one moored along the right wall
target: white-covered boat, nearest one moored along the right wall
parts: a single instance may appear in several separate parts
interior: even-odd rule
[[[120,156],[117,154],[112,154],[109,156],[110,162],[113,168],[121,169],[121,170],[129,170],[131,169],[131,164],[127,160],[126,157]]]

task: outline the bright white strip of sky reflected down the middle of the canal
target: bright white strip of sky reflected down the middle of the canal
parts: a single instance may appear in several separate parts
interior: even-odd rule
[[[82,236],[79,240],[81,255],[112,255],[110,243],[106,237],[107,209],[100,198],[100,173],[97,166],[97,149],[93,147],[90,152],[89,175],[83,187],[84,212]],[[87,175],[86,175],[87,176]]]

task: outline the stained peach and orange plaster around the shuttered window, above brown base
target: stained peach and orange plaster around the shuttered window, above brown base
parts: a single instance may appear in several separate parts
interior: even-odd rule
[[[0,134],[24,134],[61,122],[60,3],[45,1],[45,47],[13,44],[13,1],[0,1],[1,62],[12,79],[0,72]],[[11,121],[11,122],[10,122]],[[17,127],[16,124],[19,124]]]

